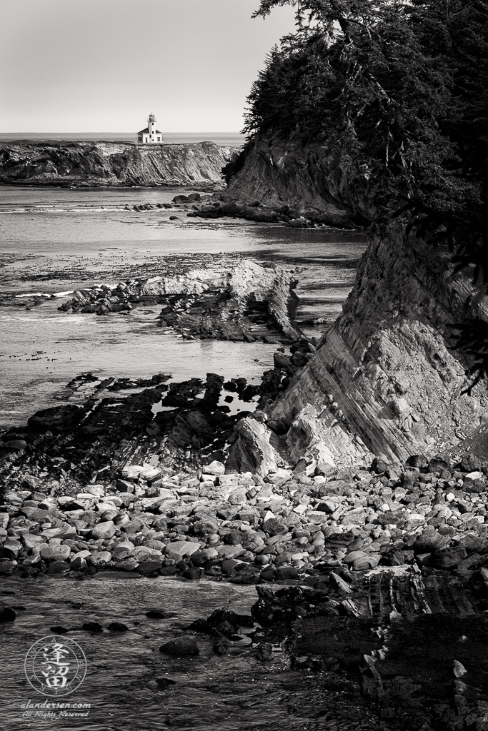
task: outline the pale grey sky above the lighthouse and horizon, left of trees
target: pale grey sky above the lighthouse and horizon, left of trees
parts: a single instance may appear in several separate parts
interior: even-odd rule
[[[258,0],[0,0],[0,132],[234,132],[293,11]]]

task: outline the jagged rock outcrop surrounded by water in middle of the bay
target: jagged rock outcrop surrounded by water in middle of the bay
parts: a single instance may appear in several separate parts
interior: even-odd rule
[[[242,260],[232,268],[192,269],[78,290],[59,310],[103,315],[162,303],[159,326],[187,338],[288,342],[301,336],[293,322],[296,284],[280,267]]]

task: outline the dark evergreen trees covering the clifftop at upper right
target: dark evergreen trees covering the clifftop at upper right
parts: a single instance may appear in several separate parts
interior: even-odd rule
[[[249,94],[244,132],[347,148],[383,215],[447,243],[488,290],[488,0],[261,0],[291,5]],[[488,328],[457,327],[488,375]],[[473,375],[473,374],[472,374]]]

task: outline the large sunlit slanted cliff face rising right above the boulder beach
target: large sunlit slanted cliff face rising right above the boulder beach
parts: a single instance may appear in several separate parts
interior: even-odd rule
[[[293,442],[308,426],[339,461],[366,448],[388,461],[452,451],[487,420],[483,390],[462,394],[448,327],[487,319],[487,298],[445,252],[390,234],[370,244],[342,315],[273,411],[293,421]]]

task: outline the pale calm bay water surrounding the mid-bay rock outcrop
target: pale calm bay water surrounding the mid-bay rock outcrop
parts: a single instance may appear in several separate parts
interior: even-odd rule
[[[179,273],[249,257],[299,269],[297,319],[320,335],[339,314],[365,248],[364,235],[296,230],[236,219],[187,218],[187,211],[127,211],[169,202],[188,189],[63,190],[0,188],[0,425],[25,423],[38,409],[70,398],[65,384],[80,372],[176,380],[217,373],[258,382],[272,367],[274,345],[187,341],[156,327],[159,308],[133,314],[68,315],[70,295],[26,309],[23,296],[59,295],[102,282]],[[170,221],[170,215],[178,220]],[[321,325],[310,325],[323,319]]]

